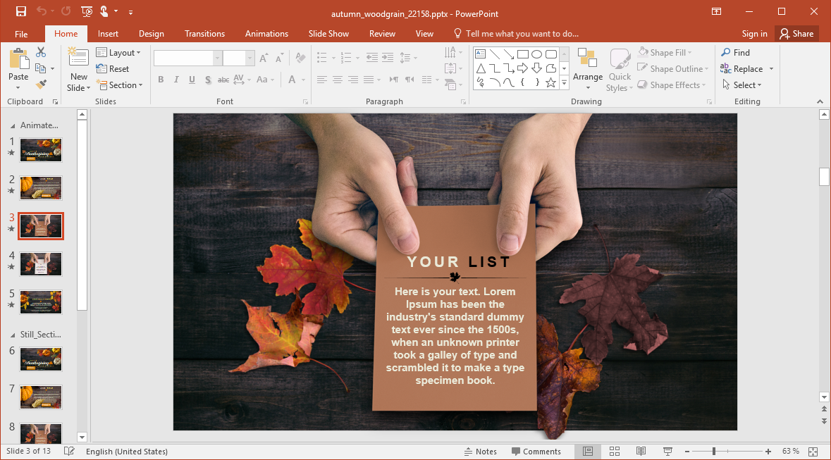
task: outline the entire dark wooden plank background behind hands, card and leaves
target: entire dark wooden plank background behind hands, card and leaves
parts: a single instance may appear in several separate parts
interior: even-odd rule
[[[420,205],[485,204],[505,135],[528,115],[356,115],[416,159]],[[175,115],[175,429],[531,429],[536,415],[371,411],[374,296],[353,289],[313,347],[319,365],[229,374],[257,350],[240,299],[287,311],[255,267],[298,247],[310,218],[317,151],[283,115]],[[664,272],[642,293],[670,339],[652,355],[615,343],[601,388],[578,394],[569,429],[736,429],[735,115],[594,115],[578,144],[583,228],[537,263],[538,311],[570,341],[580,303],[558,304],[589,272],[629,252]],[[372,287],[375,267],[350,280]],[[310,286],[305,288],[310,289]],[[581,302],[582,303],[582,302]],[[406,395],[403,395],[406,397]],[[540,432],[540,437],[543,434]]]

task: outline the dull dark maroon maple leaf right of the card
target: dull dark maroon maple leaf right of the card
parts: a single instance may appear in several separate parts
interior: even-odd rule
[[[632,332],[632,339],[624,345],[627,350],[644,350],[648,355],[669,336],[666,324],[657,315],[650,318],[646,304],[637,295],[663,277],[645,265],[636,266],[640,257],[627,254],[615,259],[615,265],[607,275],[592,273],[585,276],[560,297],[560,303],[586,301],[579,313],[594,330],[587,330],[582,341],[586,355],[597,364],[606,357],[608,345],[612,344],[609,326],[612,321]]]

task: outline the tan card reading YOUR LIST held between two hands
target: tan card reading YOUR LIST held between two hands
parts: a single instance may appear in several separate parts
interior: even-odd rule
[[[372,410],[536,410],[534,205],[510,257],[499,206],[407,209],[416,254],[378,223]]]

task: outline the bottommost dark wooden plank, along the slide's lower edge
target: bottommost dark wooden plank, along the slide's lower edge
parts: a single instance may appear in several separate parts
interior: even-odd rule
[[[314,363],[228,372],[238,364],[175,361],[174,429],[537,429],[534,412],[373,412],[371,361],[327,363],[348,394]],[[604,362],[600,388],[574,396],[568,429],[735,430],[735,393],[735,361]]]

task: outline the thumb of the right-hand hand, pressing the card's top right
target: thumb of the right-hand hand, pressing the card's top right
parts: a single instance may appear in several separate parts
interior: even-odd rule
[[[506,256],[513,256],[519,252],[525,242],[531,193],[534,191],[537,179],[525,177],[529,171],[517,169],[519,168],[507,167],[499,178],[502,183],[502,193],[499,195],[496,244],[499,246],[499,252]],[[495,182],[494,180],[494,185],[496,185]]]

